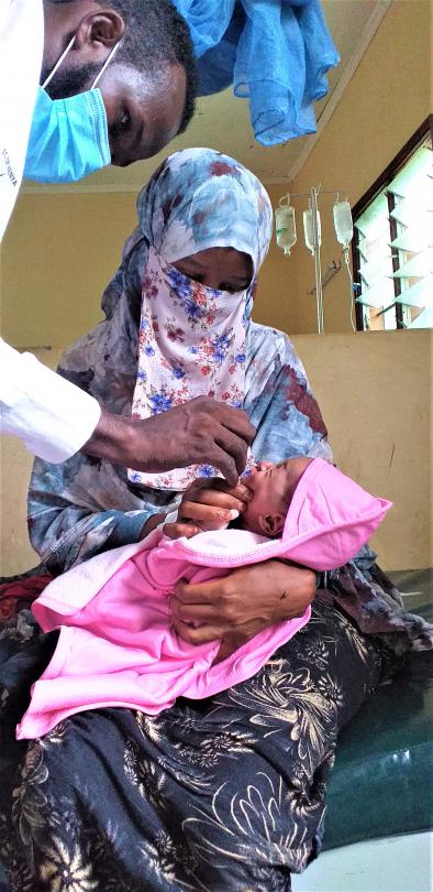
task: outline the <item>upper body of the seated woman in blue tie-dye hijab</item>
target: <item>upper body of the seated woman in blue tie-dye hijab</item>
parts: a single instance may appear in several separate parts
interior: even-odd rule
[[[130,416],[211,393],[245,407],[258,428],[256,459],[277,459],[281,448],[330,457],[323,421],[287,338],[251,322],[271,231],[258,180],[218,152],[178,152],[138,196],[137,214],[140,226],[102,298],[106,320],[66,351],[62,373]],[[278,446],[281,437],[289,446]],[[213,472],[206,464],[199,469]],[[136,541],[196,474],[151,477],[92,458],[58,471],[36,463],[32,543],[58,573]]]

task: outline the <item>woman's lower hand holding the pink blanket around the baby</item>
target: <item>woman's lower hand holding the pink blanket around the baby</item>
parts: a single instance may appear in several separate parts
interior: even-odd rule
[[[312,570],[266,561],[222,579],[178,583],[171,597],[173,624],[190,644],[221,639],[214,661],[220,662],[267,626],[301,617],[314,595]]]

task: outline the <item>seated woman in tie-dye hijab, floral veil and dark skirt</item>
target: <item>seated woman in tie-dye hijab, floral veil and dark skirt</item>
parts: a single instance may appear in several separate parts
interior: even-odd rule
[[[137,211],[140,226],[103,295],[106,320],[65,353],[62,372],[113,412],[137,417],[203,393],[243,405],[257,428],[256,461],[331,458],[289,339],[251,320],[271,226],[260,183],[233,159],[186,150],[163,163]],[[84,455],[62,466],[36,461],[33,545],[59,573],[137,541],[191,479],[213,475],[206,456],[164,476]],[[80,890],[289,890],[291,873],[320,850],[338,731],[388,672],[392,652],[429,643],[423,621],[402,612],[374,562],[364,548],[320,580],[326,588],[310,623],[254,678],[207,700],[179,699],[152,718],[89,711],[34,741],[0,798],[12,888],[24,888],[24,877],[37,877],[41,890],[60,888],[67,875]],[[221,638],[234,650],[302,612],[314,591],[311,572],[273,561],[222,581],[180,584],[174,618],[185,637],[182,618],[197,620],[189,634]],[[24,634],[32,637],[31,682],[55,641],[40,635],[29,613],[10,631],[14,640]],[[14,661],[25,672],[19,651],[1,673],[7,688],[15,684]]]

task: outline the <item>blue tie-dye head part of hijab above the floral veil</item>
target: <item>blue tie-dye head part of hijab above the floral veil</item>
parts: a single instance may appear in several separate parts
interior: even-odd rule
[[[140,229],[175,263],[206,248],[236,248],[253,260],[254,276],[269,247],[273,210],[260,181],[214,149],[170,155],[137,199]]]

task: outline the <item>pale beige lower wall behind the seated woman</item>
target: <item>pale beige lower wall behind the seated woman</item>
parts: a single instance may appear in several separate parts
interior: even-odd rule
[[[395,502],[373,540],[382,567],[431,566],[432,333],[301,335],[293,342],[340,467]],[[55,365],[58,351],[41,351],[40,357]],[[2,573],[37,563],[25,525],[31,464],[19,442],[3,438]]]

